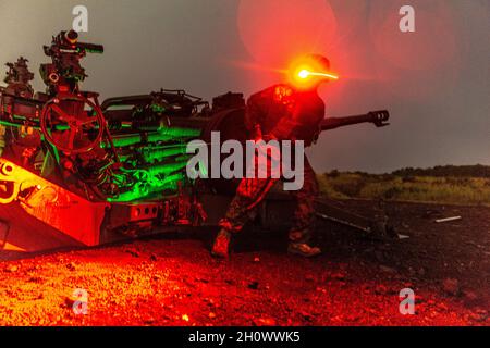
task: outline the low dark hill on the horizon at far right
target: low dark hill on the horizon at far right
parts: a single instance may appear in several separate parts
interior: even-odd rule
[[[490,165],[438,165],[429,169],[405,167],[392,172],[396,176],[490,177]]]

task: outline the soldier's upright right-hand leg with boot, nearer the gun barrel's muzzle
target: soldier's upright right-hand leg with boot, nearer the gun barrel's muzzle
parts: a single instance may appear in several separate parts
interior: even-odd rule
[[[296,200],[296,210],[289,237],[291,252],[310,257],[321,252],[309,246],[311,232],[315,229],[315,199],[319,188],[316,174],[306,157],[304,163],[303,188],[292,192]]]

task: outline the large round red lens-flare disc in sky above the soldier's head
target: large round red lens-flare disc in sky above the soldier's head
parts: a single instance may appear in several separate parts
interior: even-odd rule
[[[256,62],[284,66],[305,53],[326,53],[336,40],[336,18],[324,0],[242,0],[238,30]]]

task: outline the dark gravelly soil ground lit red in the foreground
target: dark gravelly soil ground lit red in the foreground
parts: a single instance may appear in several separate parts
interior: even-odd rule
[[[199,231],[3,261],[0,324],[488,326],[490,209],[397,203],[389,213],[408,238],[322,224],[315,259],[289,256],[285,233],[244,233],[231,260],[217,261],[211,232]],[[416,295],[414,315],[400,313],[403,288]],[[75,289],[88,295],[86,315],[73,311]]]

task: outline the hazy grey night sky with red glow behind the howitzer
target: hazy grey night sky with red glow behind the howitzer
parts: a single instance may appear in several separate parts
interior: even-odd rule
[[[402,4],[415,34],[397,27]],[[389,109],[392,125],[339,129],[309,153],[317,170],[490,164],[488,0],[0,0],[0,62],[20,54],[33,71],[41,46],[85,4],[85,89],[102,97],[184,88],[210,99],[280,82],[294,54],[328,54],[342,79],[321,94],[328,114]],[[39,76],[35,87],[41,90]]]

